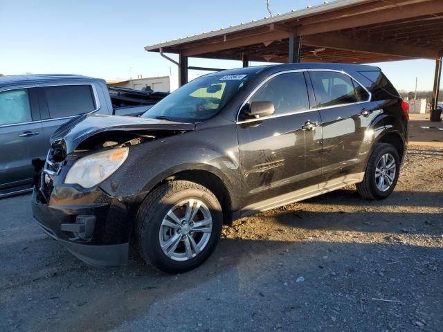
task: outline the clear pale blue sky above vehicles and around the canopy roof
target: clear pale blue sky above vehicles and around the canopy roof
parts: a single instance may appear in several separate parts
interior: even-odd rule
[[[284,13],[320,3],[271,0],[271,10]],[[76,73],[106,80],[177,75],[177,66],[144,47],[268,15],[266,0],[0,0],[0,73]],[[189,65],[242,66],[192,58]],[[432,89],[434,61],[377,66],[399,90],[413,91],[416,77],[419,91]]]

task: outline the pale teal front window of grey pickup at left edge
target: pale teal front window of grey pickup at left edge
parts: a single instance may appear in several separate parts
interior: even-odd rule
[[[0,126],[32,120],[27,89],[0,92]]]

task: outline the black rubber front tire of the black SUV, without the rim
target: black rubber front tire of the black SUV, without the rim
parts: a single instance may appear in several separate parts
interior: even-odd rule
[[[197,199],[206,205],[213,229],[206,246],[198,255],[186,261],[176,261],[168,257],[161,248],[161,224],[174,206],[187,199]],[[147,264],[166,273],[183,273],[197,268],[208,259],[219,243],[222,227],[223,213],[212,192],[190,181],[172,181],[156,187],[141,204],[136,216],[136,241]]]

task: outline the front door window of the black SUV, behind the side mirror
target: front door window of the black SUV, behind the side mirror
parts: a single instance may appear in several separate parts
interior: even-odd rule
[[[303,73],[286,73],[266,82],[253,95],[251,102],[272,102],[275,115],[309,109],[309,98]]]

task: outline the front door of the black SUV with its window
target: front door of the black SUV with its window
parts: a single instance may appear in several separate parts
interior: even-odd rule
[[[239,156],[248,203],[300,190],[321,175],[321,127],[310,109],[305,73],[279,73],[247,100],[272,102],[275,113],[237,122]],[[306,126],[310,121],[311,125]],[[258,207],[263,210],[266,207]]]

